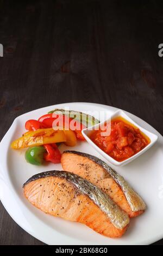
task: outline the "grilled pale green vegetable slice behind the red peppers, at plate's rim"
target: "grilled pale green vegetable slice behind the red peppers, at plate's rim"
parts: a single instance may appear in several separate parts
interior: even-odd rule
[[[96,119],[95,117],[92,117],[92,115],[88,115],[83,112],[78,112],[73,110],[67,111],[65,109],[56,108],[52,111],[49,111],[48,113],[68,115],[68,117],[76,119],[80,123],[84,124],[86,127],[93,126],[99,123],[99,120]]]

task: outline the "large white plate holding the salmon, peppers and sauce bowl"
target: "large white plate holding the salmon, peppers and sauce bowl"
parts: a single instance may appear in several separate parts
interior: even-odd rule
[[[128,113],[135,123],[155,133],[159,138],[145,154],[127,166],[116,167],[117,172],[130,182],[147,204],[145,214],[130,221],[130,227],[124,236],[120,239],[109,239],[83,224],[46,215],[23,197],[22,185],[30,176],[45,170],[61,169],[61,166],[60,164],[32,166],[24,160],[24,151],[11,150],[10,143],[22,135],[26,120],[37,119],[54,108],[65,106],[85,113],[92,110],[109,111],[112,114],[117,111],[117,108],[95,103],[65,103],[37,109],[17,117],[0,144],[0,197],[10,216],[29,234],[48,245],[148,245],[161,239],[163,237],[163,138],[155,129],[133,114]],[[70,148],[61,146],[61,150],[67,149]],[[87,142],[78,143],[73,150],[103,159]]]

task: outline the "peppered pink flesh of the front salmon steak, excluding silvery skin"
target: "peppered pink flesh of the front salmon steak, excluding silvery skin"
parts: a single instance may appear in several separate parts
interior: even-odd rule
[[[80,193],[70,181],[55,176],[55,172],[61,173],[51,171],[38,174],[23,185],[24,196],[30,203],[46,214],[83,223],[108,237],[121,237],[125,233],[128,224],[123,229],[116,228],[89,196]]]

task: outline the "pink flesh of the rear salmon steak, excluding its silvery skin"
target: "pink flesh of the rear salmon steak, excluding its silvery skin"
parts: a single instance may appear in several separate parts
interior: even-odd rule
[[[100,161],[101,160],[97,159],[97,157],[77,151],[65,151],[61,156],[61,164],[64,170],[78,174],[101,188],[101,190],[108,194],[129,217],[132,218],[142,214],[144,210],[131,210],[121,186],[109,175],[103,165],[99,164]],[[101,162],[103,163],[103,161]],[[139,198],[137,194],[135,196],[135,194],[133,194],[135,202],[139,199],[141,200],[141,198]],[[145,206],[143,206],[143,208],[145,208]]]

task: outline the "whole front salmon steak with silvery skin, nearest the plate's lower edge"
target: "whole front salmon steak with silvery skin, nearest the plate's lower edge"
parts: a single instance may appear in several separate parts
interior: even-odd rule
[[[121,237],[128,227],[128,215],[102,190],[78,175],[55,170],[36,174],[23,190],[36,208],[83,223],[99,234]]]

